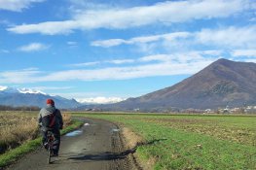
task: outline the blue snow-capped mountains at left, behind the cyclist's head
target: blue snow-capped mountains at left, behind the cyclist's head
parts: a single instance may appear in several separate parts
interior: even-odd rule
[[[54,99],[55,106],[60,109],[71,109],[81,106],[75,99],[70,100],[60,96],[52,96],[39,90],[0,86],[0,105],[44,107],[48,98]]]

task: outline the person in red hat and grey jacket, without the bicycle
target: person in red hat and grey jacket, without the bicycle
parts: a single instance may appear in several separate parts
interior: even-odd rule
[[[38,115],[38,124],[43,137],[42,143],[47,148],[47,133],[52,131],[55,136],[54,155],[57,156],[60,145],[59,129],[63,127],[63,119],[60,111],[55,108],[55,101],[53,99],[47,99],[46,104],[47,106],[42,108]]]

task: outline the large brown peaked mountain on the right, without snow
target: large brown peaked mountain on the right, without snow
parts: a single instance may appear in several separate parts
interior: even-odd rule
[[[111,107],[217,109],[256,105],[256,63],[219,59],[194,76],[164,89],[129,98]]]

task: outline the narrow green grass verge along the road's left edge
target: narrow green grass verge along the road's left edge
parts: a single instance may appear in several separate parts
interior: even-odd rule
[[[73,120],[71,125],[67,126],[63,130],[60,131],[61,135],[70,132],[78,127],[80,127],[84,122],[80,120]],[[0,154],[0,169],[1,167],[7,166],[12,162],[16,161],[18,157],[24,155],[25,153],[30,153],[35,151],[41,145],[42,138],[39,137],[37,139],[28,141],[23,145],[19,146],[14,150],[10,150],[7,153]]]

